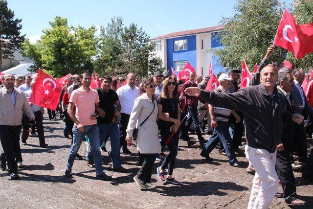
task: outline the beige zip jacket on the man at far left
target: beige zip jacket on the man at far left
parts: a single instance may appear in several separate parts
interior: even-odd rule
[[[26,100],[25,93],[15,89],[16,101],[12,105],[11,95],[6,88],[0,89],[0,125],[17,126],[22,125],[22,114],[26,116],[35,117],[30,110],[30,106]]]

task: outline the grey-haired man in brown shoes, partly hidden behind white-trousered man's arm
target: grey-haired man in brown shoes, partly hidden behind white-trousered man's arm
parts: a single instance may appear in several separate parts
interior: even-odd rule
[[[282,99],[286,102],[286,111],[294,114],[294,110],[291,103],[290,92],[294,87],[292,70],[289,68],[282,68],[278,71],[277,81],[278,93],[282,94]],[[305,204],[305,201],[297,198],[296,187],[294,184],[294,175],[291,167],[290,153],[293,147],[294,129],[296,123],[290,121],[283,127],[281,136],[281,143],[277,145],[276,156],[276,171],[278,178],[283,187],[283,197],[286,203],[291,205]]]

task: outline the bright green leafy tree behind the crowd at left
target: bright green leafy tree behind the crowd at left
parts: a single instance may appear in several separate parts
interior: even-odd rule
[[[23,54],[34,60],[32,70],[43,68],[54,77],[93,70],[95,27],[70,27],[66,18],[58,16],[49,24],[37,43],[26,40],[22,45]]]

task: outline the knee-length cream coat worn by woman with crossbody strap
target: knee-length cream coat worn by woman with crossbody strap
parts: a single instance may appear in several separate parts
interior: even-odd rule
[[[139,127],[139,125],[150,115],[155,105],[155,110],[146,122]],[[152,101],[146,93],[137,97],[134,101],[134,108],[131,113],[128,126],[127,136],[133,137],[134,128],[138,128],[137,135],[137,149],[142,154],[156,154],[161,153],[161,144],[158,139],[158,128],[156,124],[157,117],[157,103],[156,99]]]

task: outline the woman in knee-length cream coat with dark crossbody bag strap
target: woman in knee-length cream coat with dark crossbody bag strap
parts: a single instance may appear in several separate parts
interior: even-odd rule
[[[156,155],[161,153],[161,144],[158,139],[158,128],[156,124],[157,103],[154,96],[155,90],[156,85],[152,78],[143,81],[141,87],[143,94],[134,101],[134,108],[126,130],[126,140],[131,142],[134,128],[138,128],[136,139],[137,149],[144,158],[144,162],[134,177],[134,181],[138,186],[145,189],[156,187],[150,183],[150,179],[152,167],[156,161]],[[139,127],[148,116],[149,118],[145,123]]]

